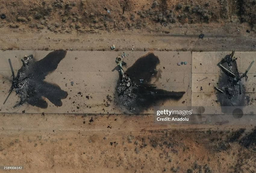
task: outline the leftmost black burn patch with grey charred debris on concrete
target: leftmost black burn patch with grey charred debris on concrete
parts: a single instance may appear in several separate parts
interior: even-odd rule
[[[45,97],[55,106],[62,106],[61,99],[67,98],[68,93],[44,79],[58,67],[66,54],[67,51],[63,50],[53,51],[39,61],[30,59],[29,65],[23,65],[18,70],[17,77],[14,79],[14,88],[21,99],[20,105],[29,103],[32,106],[47,108],[48,103],[44,100]]]

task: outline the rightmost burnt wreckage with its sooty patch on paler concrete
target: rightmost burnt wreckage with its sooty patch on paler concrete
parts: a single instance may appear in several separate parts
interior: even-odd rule
[[[237,58],[234,57],[235,51],[231,54],[226,55],[217,66],[221,68],[224,73],[219,76],[218,87],[215,87],[217,92],[217,101],[220,102],[221,106],[245,106],[249,98],[245,96],[245,78],[247,80],[247,73],[250,70],[254,61],[251,62],[247,70],[241,73],[237,69]]]

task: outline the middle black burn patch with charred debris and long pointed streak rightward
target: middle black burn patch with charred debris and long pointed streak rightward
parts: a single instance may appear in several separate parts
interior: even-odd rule
[[[156,66],[160,63],[153,53],[139,58],[128,70],[127,75],[131,79],[128,87],[122,75],[117,83],[117,104],[123,105],[132,113],[140,113],[149,107],[157,106],[159,101],[168,99],[179,100],[185,92],[165,91],[156,88],[151,80],[158,73]]]

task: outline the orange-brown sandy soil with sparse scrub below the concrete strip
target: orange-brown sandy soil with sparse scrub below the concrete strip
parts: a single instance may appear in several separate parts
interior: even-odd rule
[[[251,149],[237,138],[226,143],[240,128],[250,132],[251,125],[156,126],[152,119],[147,115],[1,114],[1,164],[23,166],[20,172],[255,170]]]

